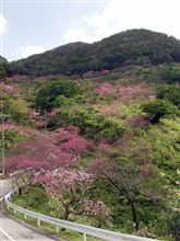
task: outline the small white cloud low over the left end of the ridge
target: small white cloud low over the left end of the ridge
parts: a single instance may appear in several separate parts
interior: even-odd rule
[[[45,46],[27,45],[27,46],[23,46],[21,48],[17,48],[15,54],[16,54],[17,58],[26,58],[26,57],[34,55],[34,54],[44,53],[45,50],[46,50]]]

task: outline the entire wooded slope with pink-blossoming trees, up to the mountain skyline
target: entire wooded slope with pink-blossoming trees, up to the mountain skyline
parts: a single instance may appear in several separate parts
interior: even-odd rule
[[[26,184],[14,202],[64,220],[179,241],[179,57],[175,38],[134,30],[12,65],[3,59],[0,154],[4,144],[5,177],[13,172],[17,185]],[[59,236],[82,239],[68,230]]]

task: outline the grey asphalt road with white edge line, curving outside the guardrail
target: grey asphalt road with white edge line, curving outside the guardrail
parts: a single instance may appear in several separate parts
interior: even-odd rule
[[[12,190],[10,181],[0,181],[0,197]],[[0,210],[0,240],[1,241],[60,241],[60,239],[46,234],[45,232],[22,221],[10,218],[3,210]]]

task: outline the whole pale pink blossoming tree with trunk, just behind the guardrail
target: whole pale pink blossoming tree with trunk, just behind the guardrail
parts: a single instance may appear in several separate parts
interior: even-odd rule
[[[49,196],[58,200],[63,208],[63,219],[70,215],[110,216],[109,209],[100,200],[93,200],[95,176],[84,171],[57,169],[36,176]]]

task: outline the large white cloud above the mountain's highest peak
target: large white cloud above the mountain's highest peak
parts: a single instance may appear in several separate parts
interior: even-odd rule
[[[179,0],[111,0],[101,12],[82,16],[81,24],[70,28],[68,42],[95,42],[130,28],[148,28],[180,38]]]

